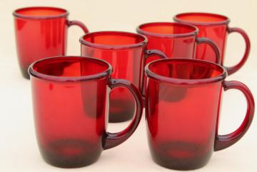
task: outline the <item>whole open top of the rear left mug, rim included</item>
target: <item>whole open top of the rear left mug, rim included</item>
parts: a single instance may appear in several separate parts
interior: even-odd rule
[[[54,12],[54,14],[33,14],[33,12],[40,11],[51,11]],[[28,12],[31,12],[31,14],[29,14]],[[24,19],[57,19],[68,16],[69,11],[67,11],[66,9],[51,6],[30,6],[14,10],[13,15]]]

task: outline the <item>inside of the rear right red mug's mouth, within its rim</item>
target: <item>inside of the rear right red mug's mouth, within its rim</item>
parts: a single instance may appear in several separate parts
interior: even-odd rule
[[[200,23],[217,23],[222,21],[227,21],[226,16],[221,16],[218,14],[208,14],[208,13],[186,13],[178,14],[175,19],[180,19],[182,21],[200,22]]]

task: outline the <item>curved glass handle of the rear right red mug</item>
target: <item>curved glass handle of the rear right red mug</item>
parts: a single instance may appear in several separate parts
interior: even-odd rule
[[[231,34],[233,32],[237,32],[238,34],[241,34],[241,36],[243,36],[243,39],[246,42],[246,50],[245,50],[245,52],[243,54],[243,58],[241,59],[241,61],[239,61],[238,64],[236,64],[235,66],[226,67],[226,69],[228,71],[228,75],[231,75],[231,74],[235,73],[236,71],[238,71],[239,69],[241,69],[243,64],[246,63],[246,60],[248,59],[248,56],[249,56],[249,53],[250,53],[250,49],[251,49],[250,39],[249,39],[248,35],[246,34],[246,32],[243,31],[243,29],[240,29],[240,28],[228,28],[228,34]]]

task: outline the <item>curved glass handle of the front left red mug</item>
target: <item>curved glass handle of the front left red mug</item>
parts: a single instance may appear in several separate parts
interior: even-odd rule
[[[125,128],[123,131],[120,131],[118,133],[106,133],[107,136],[103,146],[105,150],[118,146],[119,144],[126,141],[126,139],[128,139],[136,130],[142,116],[143,100],[141,97],[141,93],[138,91],[138,88],[136,88],[136,86],[134,86],[133,84],[131,84],[131,82],[125,79],[111,79],[109,83],[109,87],[111,89],[119,86],[129,89],[129,91],[131,91],[131,93],[133,94],[136,101],[136,115],[132,119],[129,126]]]

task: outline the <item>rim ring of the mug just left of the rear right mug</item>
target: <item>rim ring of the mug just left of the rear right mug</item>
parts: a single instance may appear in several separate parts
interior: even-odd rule
[[[146,28],[149,26],[181,27],[181,28],[191,29],[191,31],[188,31],[186,33],[179,33],[179,34],[159,34],[159,33],[153,33],[150,31],[143,30],[143,28]],[[182,38],[187,36],[196,36],[198,34],[198,28],[191,24],[181,24],[176,22],[151,22],[151,23],[141,24],[137,26],[136,32],[138,32],[138,34],[143,34],[143,35],[152,36],[152,37],[159,37],[159,38]]]

